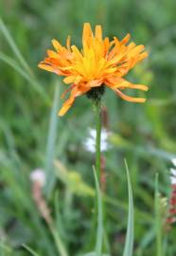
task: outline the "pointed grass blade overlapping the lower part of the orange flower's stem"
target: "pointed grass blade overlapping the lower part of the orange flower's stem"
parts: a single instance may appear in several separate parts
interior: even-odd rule
[[[103,210],[102,210],[102,198],[99,189],[99,183],[97,180],[97,172],[93,167],[95,181],[96,181],[96,192],[97,192],[97,243],[96,243],[96,255],[101,256],[102,253],[102,240],[103,240]]]

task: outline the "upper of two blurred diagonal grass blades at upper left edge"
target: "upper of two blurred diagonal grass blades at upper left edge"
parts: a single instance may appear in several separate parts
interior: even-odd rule
[[[19,60],[20,64],[22,64],[22,66],[26,69],[26,72],[28,72],[30,76],[33,76],[33,73],[31,71],[30,67],[28,66],[28,64],[26,64],[26,60],[22,56],[20,50],[18,49],[13,38],[11,37],[8,27],[6,27],[6,25],[4,24],[4,22],[1,18],[0,18],[0,30],[2,31],[4,37],[6,38],[9,46],[11,47],[16,58]]]

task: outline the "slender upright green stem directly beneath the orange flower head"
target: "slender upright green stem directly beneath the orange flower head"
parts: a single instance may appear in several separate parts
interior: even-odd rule
[[[100,142],[101,142],[101,101],[96,102],[96,130],[97,130],[97,137],[96,137],[96,171],[98,181],[100,183],[100,165],[101,165],[101,149],[100,149]]]

